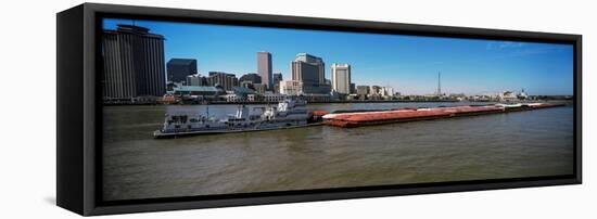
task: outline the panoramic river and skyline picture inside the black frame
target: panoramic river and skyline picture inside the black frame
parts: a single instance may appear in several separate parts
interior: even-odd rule
[[[104,201],[574,173],[571,44],[102,25]]]

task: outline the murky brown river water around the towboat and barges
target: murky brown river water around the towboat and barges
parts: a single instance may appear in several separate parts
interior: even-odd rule
[[[469,103],[309,104],[309,110]],[[212,116],[236,105],[209,105]],[[250,107],[254,107],[250,105]],[[344,129],[155,140],[167,112],[205,105],[105,106],[103,198],[136,199],[573,173],[573,108]]]

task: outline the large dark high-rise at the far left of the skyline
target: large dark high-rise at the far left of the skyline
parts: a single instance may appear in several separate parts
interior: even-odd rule
[[[166,93],[164,37],[150,29],[118,25],[103,30],[103,96],[136,98]]]

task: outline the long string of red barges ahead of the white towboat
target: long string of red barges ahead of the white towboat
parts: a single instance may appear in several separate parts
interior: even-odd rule
[[[475,116],[485,114],[499,114],[519,111],[532,111],[563,106],[564,104],[550,103],[519,103],[519,104],[492,104],[492,105],[465,105],[434,108],[393,108],[363,112],[340,112],[323,115],[323,123],[330,126],[354,128],[360,126],[374,126],[382,124],[430,120],[440,118],[453,118],[461,116]]]

